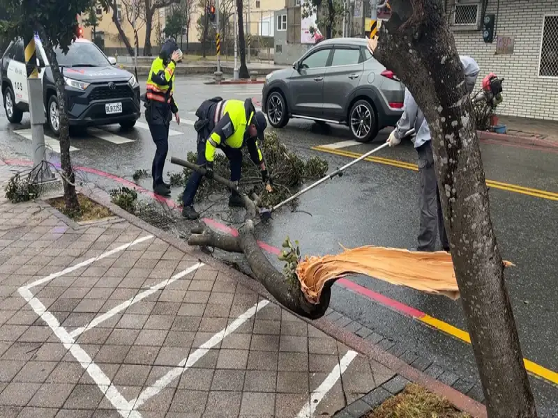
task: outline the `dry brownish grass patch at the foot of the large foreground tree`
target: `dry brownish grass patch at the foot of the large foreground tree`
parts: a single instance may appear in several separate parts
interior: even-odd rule
[[[442,396],[412,383],[405,390],[384,401],[364,418],[472,418],[456,410]]]

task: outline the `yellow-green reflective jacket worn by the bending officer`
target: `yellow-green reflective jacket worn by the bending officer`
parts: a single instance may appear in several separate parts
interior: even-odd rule
[[[209,135],[205,146],[205,159],[213,162],[216,148],[229,146],[241,148],[246,137],[246,129],[254,117],[255,109],[242,100],[223,100],[216,104],[213,123],[215,127]],[[262,151],[255,138],[248,139],[248,150],[255,163],[263,161]]]

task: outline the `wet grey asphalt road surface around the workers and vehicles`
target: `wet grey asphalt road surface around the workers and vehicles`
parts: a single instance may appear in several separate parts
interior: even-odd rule
[[[202,100],[216,95],[237,99],[261,98],[261,85],[209,86],[199,77],[176,82],[175,97],[182,123],[178,126],[173,121],[171,125],[174,134],[169,137],[169,158],[186,157],[188,151],[195,150],[193,112]],[[0,150],[4,157],[28,158],[31,155],[31,141],[25,138],[29,136],[28,129],[29,115],[24,117],[22,125],[13,126],[6,120],[2,109]],[[301,156],[325,158],[330,169],[350,161],[347,156],[337,155],[339,151],[361,154],[387,137],[387,133],[382,132],[372,144],[349,144],[326,153],[310,148],[350,141],[346,127],[321,127],[310,121],[291,121],[278,134]],[[56,148],[56,141],[50,141]],[[151,169],[155,151],[144,123],[137,125],[132,132],[120,132],[118,126],[89,130],[83,137],[73,138],[71,144],[77,148],[71,152],[73,164],[128,179],[137,169]],[[516,265],[507,270],[506,284],[513,302],[523,356],[557,372],[558,258],[555,249],[558,248],[558,202],[532,189],[558,192],[558,153],[499,144],[481,144],[481,150],[486,177],[512,186],[490,187],[490,208],[502,255]],[[384,149],[377,156],[416,163],[410,143]],[[56,162],[59,154],[50,152],[49,158]],[[418,229],[418,177],[416,171],[397,165],[389,162],[357,164],[342,178],[308,192],[301,198],[296,212],[287,210],[277,215],[271,226],[259,231],[259,238],[279,246],[285,235],[289,235],[299,240],[304,254],[312,255],[338,252],[340,244],[346,247],[414,247]],[[167,171],[177,172],[181,168],[167,162],[165,173]],[[103,186],[103,180],[94,180]],[[151,180],[142,181],[146,188],[150,183]],[[176,199],[180,192],[181,189],[173,190],[173,198]],[[391,286],[370,277],[351,279],[363,288],[460,330],[467,330],[459,301]],[[393,307],[386,307],[343,286],[334,286],[331,307],[463,378],[478,378],[471,346],[442,330],[427,327]],[[535,377],[531,378],[531,384],[539,416],[554,417],[558,413],[557,385]]]

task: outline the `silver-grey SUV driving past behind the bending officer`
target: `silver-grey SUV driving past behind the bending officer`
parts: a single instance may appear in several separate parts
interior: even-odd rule
[[[394,126],[403,111],[405,86],[374,59],[363,38],[324,40],[292,68],[267,75],[262,110],[273,127],[289,118],[348,125],[356,141],[369,142]]]

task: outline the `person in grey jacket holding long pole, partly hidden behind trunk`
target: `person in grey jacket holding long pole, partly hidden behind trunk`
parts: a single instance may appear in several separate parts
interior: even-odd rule
[[[460,55],[460,60],[465,71],[465,85],[471,94],[474,90],[476,77],[480,72],[477,63],[470,56]],[[434,169],[434,157],[430,145],[430,129],[421,109],[414,101],[409,90],[405,88],[405,100],[403,102],[403,114],[395,129],[389,135],[389,146],[396,146],[401,142],[405,133],[415,129],[416,137],[414,148],[418,153],[418,175],[420,176],[420,226],[418,231],[418,251],[435,251],[436,231],[439,232],[442,249],[449,251],[449,242],[444,228],[444,217],[440,205],[440,195],[436,172]]]

